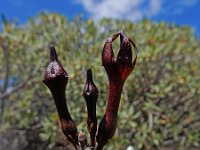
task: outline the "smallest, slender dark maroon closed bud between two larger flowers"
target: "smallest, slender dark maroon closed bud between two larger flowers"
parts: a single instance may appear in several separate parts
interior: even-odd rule
[[[87,79],[83,91],[87,106],[87,127],[91,138],[91,147],[95,147],[95,136],[97,131],[96,102],[98,99],[98,88],[92,79],[92,70],[87,70]]]

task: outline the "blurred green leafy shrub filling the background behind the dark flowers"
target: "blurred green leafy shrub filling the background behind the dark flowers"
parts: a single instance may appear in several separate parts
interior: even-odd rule
[[[48,44],[56,43],[70,75],[66,95],[79,130],[86,130],[82,91],[92,68],[103,116],[108,79],[101,64],[105,40],[125,30],[139,48],[121,98],[118,128],[105,149],[200,149],[200,40],[190,27],[143,20],[95,23],[40,14],[19,26],[6,20],[0,33],[0,149],[72,149],[59,127],[49,90],[41,82]],[[115,54],[119,43],[115,43]]]

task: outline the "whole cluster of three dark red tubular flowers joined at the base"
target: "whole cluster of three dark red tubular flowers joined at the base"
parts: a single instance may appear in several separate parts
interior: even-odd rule
[[[114,57],[112,43],[120,37],[120,48],[117,57]],[[134,48],[134,57],[132,48]],[[133,60],[132,60],[133,59]],[[87,78],[83,97],[87,107],[87,127],[90,133],[90,144],[87,143],[83,132],[77,132],[77,127],[68,111],[65,90],[68,74],[60,64],[53,44],[50,44],[50,60],[46,69],[43,82],[50,89],[58,111],[64,135],[74,145],[76,150],[96,149],[102,150],[111,139],[117,128],[117,115],[123,85],[133,71],[137,59],[137,47],[134,42],[126,37],[123,31],[108,38],[102,51],[102,65],[108,75],[109,94],[106,111],[99,124],[97,132],[96,102],[98,88],[93,82],[91,69],[87,70]]]

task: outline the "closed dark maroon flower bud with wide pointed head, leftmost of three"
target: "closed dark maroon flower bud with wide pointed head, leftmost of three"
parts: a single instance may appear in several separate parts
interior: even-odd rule
[[[68,111],[65,97],[68,74],[58,61],[53,44],[50,44],[50,60],[44,74],[43,82],[50,89],[53,95],[62,131],[68,140],[75,146],[78,144],[77,128]]]

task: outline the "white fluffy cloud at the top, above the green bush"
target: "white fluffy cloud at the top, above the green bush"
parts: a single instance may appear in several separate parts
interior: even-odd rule
[[[95,20],[103,17],[141,20],[157,15],[162,0],[78,0]]]

